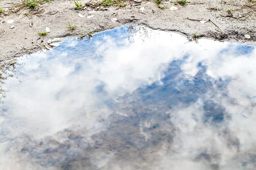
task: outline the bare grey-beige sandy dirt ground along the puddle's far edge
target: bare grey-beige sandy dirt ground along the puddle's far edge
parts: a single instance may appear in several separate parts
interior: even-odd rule
[[[201,0],[190,1],[185,6],[166,0],[161,2],[161,6],[167,7],[165,9],[158,8],[154,1],[126,1],[125,7],[106,7],[108,10],[97,10],[96,6],[76,10],[72,0],[52,0],[40,4],[34,11],[24,7],[17,12],[14,12],[17,7],[12,3],[21,4],[22,1],[0,0],[0,8],[5,10],[0,14],[1,62],[38,51],[38,47],[47,44],[50,38],[60,37],[63,40],[79,37],[81,32],[87,30],[99,32],[128,24],[175,31],[188,37],[201,34],[204,38],[256,45],[254,0]],[[91,2],[82,0],[81,3]],[[171,10],[173,6],[177,10]],[[79,17],[79,14],[84,17]],[[14,22],[8,23],[9,20]],[[208,22],[201,23],[199,20]],[[32,27],[29,26],[31,21]],[[73,22],[77,28],[70,31],[68,22]],[[13,26],[15,28],[11,28]],[[45,31],[46,27],[50,28],[50,32],[44,37],[40,36],[38,32]],[[245,38],[244,34],[249,34],[250,39]]]

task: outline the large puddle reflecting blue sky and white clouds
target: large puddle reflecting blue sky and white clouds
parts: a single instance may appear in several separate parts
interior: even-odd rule
[[[0,169],[255,170],[255,48],[187,41],[125,26],[19,58]]]

